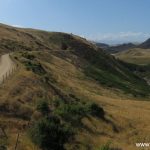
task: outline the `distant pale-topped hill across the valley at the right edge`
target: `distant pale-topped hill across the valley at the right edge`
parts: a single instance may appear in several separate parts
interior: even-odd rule
[[[128,51],[116,53],[117,59],[132,72],[145,79],[150,84],[150,49],[134,48]]]

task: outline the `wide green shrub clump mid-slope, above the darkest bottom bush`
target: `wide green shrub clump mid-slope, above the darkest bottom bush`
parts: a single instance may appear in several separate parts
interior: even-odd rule
[[[105,112],[103,108],[95,103],[70,102],[63,103],[61,100],[55,101],[57,107],[55,114],[61,116],[65,121],[71,122],[73,125],[80,125],[84,117],[92,115],[98,118],[104,118]]]

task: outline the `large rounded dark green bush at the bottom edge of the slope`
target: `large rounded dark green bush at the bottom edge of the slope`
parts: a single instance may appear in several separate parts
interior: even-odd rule
[[[42,150],[64,150],[72,135],[72,129],[54,116],[40,119],[29,129],[32,142]]]

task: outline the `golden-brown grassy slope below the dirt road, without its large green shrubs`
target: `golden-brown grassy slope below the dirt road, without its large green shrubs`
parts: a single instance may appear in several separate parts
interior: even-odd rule
[[[84,108],[87,109],[88,107],[85,106],[91,102],[104,109],[104,118],[95,116],[93,113],[86,113],[81,124],[78,117],[82,115],[80,113],[77,115],[78,111],[71,114],[70,119],[68,115],[71,112],[63,114],[63,120],[67,117],[64,121],[67,123],[71,121],[71,127],[75,130],[73,140],[65,145],[68,150],[95,150],[109,141],[113,148],[127,147],[129,150],[134,150],[134,142],[149,139],[146,136],[149,129],[148,102],[134,101],[135,99],[132,101],[131,97],[127,100],[127,95],[100,86],[87,78],[82,69],[74,66],[70,60],[56,56],[56,52],[53,54],[35,51],[17,52],[13,54],[13,57],[20,63],[20,69],[0,89],[0,106],[5,108],[1,111],[0,118],[9,137],[6,141],[9,148],[13,149],[14,137],[20,133],[18,148],[35,149],[36,146],[26,132],[29,128],[28,124],[42,117],[36,108],[39,99],[45,99],[51,113],[57,110],[60,116],[62,113],[56,107],[59,99],[60,102],[65,102],[66,106],[75,103],[79,110],[80,107],[82,108],[81,112]],[[76,116],[78,121],[74,122],[72,116]],[[130,138],[126,138],[128,135]]]

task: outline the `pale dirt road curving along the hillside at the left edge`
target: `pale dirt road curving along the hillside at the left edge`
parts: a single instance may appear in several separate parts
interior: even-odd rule
[[[11,60],[9,54],[2,55],[0,58],[0,84],[9,77],[15,68],[15,63]]]

